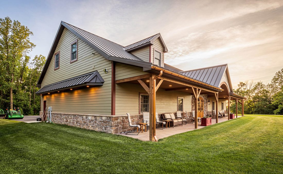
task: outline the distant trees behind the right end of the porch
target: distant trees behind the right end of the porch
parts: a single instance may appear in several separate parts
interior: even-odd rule
[[[283,114],[283,69],[275,73],[270,83],[245,81],[238,84],[234,93],[246,97],[245,114]],[[231,101],[230,110],[236,112],[235,101]],[[238,114],[242,106],[238,104]]]

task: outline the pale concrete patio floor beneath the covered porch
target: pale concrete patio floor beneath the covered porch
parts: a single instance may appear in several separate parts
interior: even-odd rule
[[[238,118],[241,117],[241,116],[238,116]],[[236,119],[236,116],[235,116],[235,119]],[[212,119],[212,124],[216,124],[216,119]],[[224,121],[228,121],[228,117],[225,117],[225,118],[218,118],[218,123],[221,123],[221,122],[224,122]],[[205,126],[200,126],[200,122],[198,122],[198,129],[201,129]],[[156,137],[157,139],[161,139],[161,138],[165,138],[165,137],[169,137],[171,135],[175,135],[175,134],[178,134],[178,133],[184,133],[184,132],[187,132],[187,131],[192,131],[192,130],[195,130],[194,128],[194,123],[193,124],[190,124],[190,123],[187,123],[187,124],[183,124],[183,126],[171,126],[169,128],[166,129],[164,128],[163,130],[162,129],[156,129]],[[127,137],[132,137],[132,138],[136,138],[136,139],[139,139],[141,141],[149,141],[149,131],[145,132],[143,131],[143,133],[139,133],[138,135],[126,135],[126,133],[117,133],[117,135],[123,135],[123,136],[127,136]]]

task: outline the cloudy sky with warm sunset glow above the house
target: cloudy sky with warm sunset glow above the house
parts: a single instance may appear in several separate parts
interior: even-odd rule
[[[228,63],[233,88],[283,68],[283,1],[2,1],[6,16],[33,31],[32,57],[47,56],[62,20],[124,46],[161,33],[165,63]]]

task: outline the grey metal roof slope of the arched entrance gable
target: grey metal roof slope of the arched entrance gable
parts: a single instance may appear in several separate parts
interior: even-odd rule
[[[218,87],[227,64],[179,72],[187,77]]]

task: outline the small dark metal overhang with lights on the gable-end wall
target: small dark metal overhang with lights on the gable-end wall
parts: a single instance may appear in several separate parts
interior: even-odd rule
[[[84,75],[80,75],[77,77],[69,78],[67,80],[63,80],[60,82],[56,82],[53,84],[50,84],[48,86],[42,87],[40,90],[36,92],[37,95],[43,95],[43,94],[52,94],[64,91],[69,91],[70,89],[80,89],[80,88],[86,88],[86,87],[92,87],[92,86],[101,86],[103,85],[104,80],[98,73],[98,71],[94,71],[92,73],[87,73]]]

